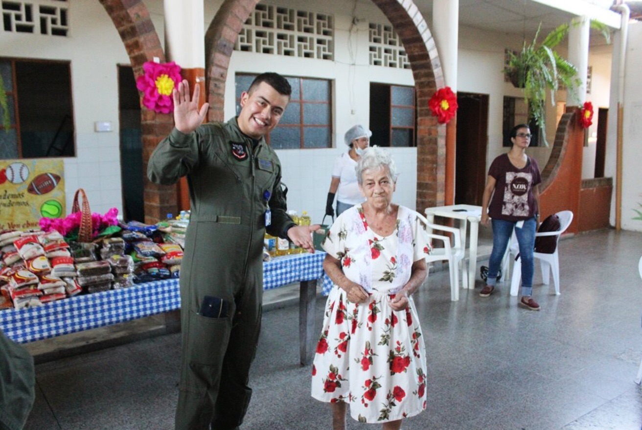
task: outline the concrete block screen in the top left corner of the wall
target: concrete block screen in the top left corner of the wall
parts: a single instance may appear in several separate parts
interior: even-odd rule
[[[67,0],[3,0],[0,5],[4,31],[67,36]]]

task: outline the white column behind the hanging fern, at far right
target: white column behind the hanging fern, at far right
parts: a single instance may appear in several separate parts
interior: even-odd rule
[[[580,85],[577,94],[566,94],[567,106],[582,106],[586,101],[587,72],[589,67],[589,17],[577,17],[571,21],[568,33],[568,60],[577,67],[577,78]]]

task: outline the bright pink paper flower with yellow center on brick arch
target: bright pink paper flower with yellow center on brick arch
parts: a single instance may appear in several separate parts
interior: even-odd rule
[[[169,113],[174,110],[174,101],[171,91],[180,82],[180,66],[175,62],[154,63],[146,62],[143,65],[145,74],[136,79],[136,88],[141,90],[143,105],[159,113]]]

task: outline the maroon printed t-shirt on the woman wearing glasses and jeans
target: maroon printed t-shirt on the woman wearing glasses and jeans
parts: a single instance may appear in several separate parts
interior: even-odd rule
[[[535,216],[533,187],[542,179],[537,161],[527,156],[526,166],[517,169],[510,162],[508,154],[501,154],[492,161],[489,176],[495,178],[495,190],[490,199],[490,218],[505,221],[521,221]]]

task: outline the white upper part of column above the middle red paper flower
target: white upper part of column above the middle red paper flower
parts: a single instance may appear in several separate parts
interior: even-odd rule
[[[457,92],[457,45],[459,42],[459,0],[433,1],[433,26],[444,81]]]

